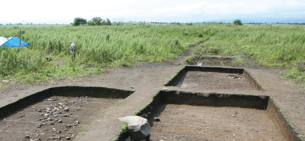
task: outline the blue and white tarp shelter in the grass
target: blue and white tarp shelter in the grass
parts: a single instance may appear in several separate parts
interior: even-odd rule
[[[0,37],[0,47],[6,45],[8,47],[20,47],[20,39],[17,37],[4,38]],[[21,40],[21,46],[29,46],[30,44]]]

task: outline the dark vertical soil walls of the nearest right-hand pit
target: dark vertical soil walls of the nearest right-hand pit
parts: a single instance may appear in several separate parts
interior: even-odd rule
[[[161,90],[153,96],[152,101],[136,115],[141,116],[150,112],[151,114],[147,117],[147,119],[149,119],[161,104],[196,104],[197,106],[225,106],[266,110],[286,140],[302,141],[302,139],[298,137],[299,133],[294,130],[291,124],[289,124],[285,119],[282,112],[280,112],[274,99],[267,95],[257,96],[243,94],[193,93],[186,91]],[[124,141],[127,136],[128,133],[126,131],[122,132],[117,141]]]

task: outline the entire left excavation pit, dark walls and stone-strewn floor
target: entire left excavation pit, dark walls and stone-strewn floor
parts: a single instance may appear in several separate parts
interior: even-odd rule
[[[0,141],[66,140],[66,137],[73,140],[115,102],[127,98],[133,92],[66,86],[29,95],[0,108]],[[69,108],[69,111],[65,108]],[[52,121],[48,121],[48,117]],[[59,120],[62,122],[59,123]]]

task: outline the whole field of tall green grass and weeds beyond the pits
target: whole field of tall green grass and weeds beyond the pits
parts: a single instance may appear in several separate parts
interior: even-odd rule
[[[209,41],[194,48],[196,55],[238,56],[243,63],[244,56],[240,54],[244,50],[260,64],[291,68],[283,74],[298,83],[303,83],[305,77],[305,68],[299,65],[305,53],[305,26],[301,25],[3,25],[0,36],[14,36],[19,29],[22,40],[31,46],[0,48],[2,79],[40,83],[100,74],[101,67],[106,66],[167,61],[209,37]],[[77,47],[76,63],[71,61],[69,50],[72,36]],[[47,62],[44,57],[52,61]]]

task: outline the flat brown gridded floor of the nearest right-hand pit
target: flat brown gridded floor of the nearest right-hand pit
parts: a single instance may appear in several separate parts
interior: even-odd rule
[[[160,105],[150,118],[153,141],[285,141],[264,110],[190,105]]]

